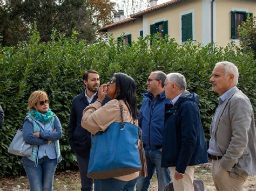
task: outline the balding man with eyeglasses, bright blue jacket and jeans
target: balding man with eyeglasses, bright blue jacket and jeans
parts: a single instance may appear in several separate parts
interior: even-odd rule
[[[171,100],[165,98],[164,82],[166,74],[152,72],[147,79],[147,93],[144,93],[140,108],[139,126],[142,128],[143,143],[147,160],[147,177],[139,177],[136,190],[147,190],[150,180],[157,171],[158,190],[164,190],[171,181],[167,168],[161,168],[161,150],[164,131],[164,105]]]

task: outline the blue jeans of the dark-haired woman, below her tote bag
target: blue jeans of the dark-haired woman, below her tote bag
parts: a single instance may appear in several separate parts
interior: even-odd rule
[[[122,181],[114,178],[95,180],[95,191],[133,191],[136,185],[137,179],[130,181]]]

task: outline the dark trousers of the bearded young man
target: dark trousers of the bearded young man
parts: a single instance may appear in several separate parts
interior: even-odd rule
[[[80,178],[81,178],[81,185],[82,185],[81,190],[92,191],[92,179],[86,176],[89,158],[87,159],[82,158],[78,154],[76,154],[76,156],[77,156],[77,163],[78,163],[78,168],[79,168]]]

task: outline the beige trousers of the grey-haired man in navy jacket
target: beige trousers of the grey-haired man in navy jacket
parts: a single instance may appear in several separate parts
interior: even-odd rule
[[[177,191],[194,191],[194,166],[187,166],[184,173],[184,178],[180,180],[174,179],[175,166],[169,167],[172,176],[173,188]]]

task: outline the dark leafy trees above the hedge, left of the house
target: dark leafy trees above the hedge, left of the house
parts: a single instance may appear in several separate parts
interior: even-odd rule
[[[37,23],[42,41],[49,41],[53,29],[65,36],[95,42],[104,34],[98,29],[111,22],[114,3],[109,0],[0,0],[0,36],[3,45],[15,45],[28,37]]]

